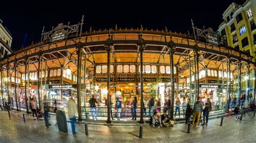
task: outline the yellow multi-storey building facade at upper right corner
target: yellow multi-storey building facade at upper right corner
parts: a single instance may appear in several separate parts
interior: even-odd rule
[[[254,57],[256,49],[256,1],[246,0],[242,5],[232,3],[223,13],[224,22],[219,26],[226,35],[228,46]]]

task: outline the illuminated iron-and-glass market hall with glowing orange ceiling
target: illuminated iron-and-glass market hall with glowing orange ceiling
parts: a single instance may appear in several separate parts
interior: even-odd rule
[[[83,32],[82,25],[83,20],[43,30],[41,42],[3,59],[3,102],[29,112],[29,98],[35,97],[39,108],[48,102],[52,108],[65,110],[73,96],[81,120],[91,116],[93,95],[98,101],[97,116],[109,123],[111,103],[117,97],[122,101],[123,118],[131,117],[134,97],[138,117],[142,117],[142,103],[147,107],[151,96],[159,99],[161,111],[168,99],[171,106],[165,108],[172,111],[177,98],[181,102],[184,97],[192,102],[197,97],[210,98],[213,110],[222,111],[229,111],[226,105],[232,101],[244,102],[240,100],[243,94],[252,94],[248,102],[255,99],[255,62],[244,52],[167,29],[116,26]]]

